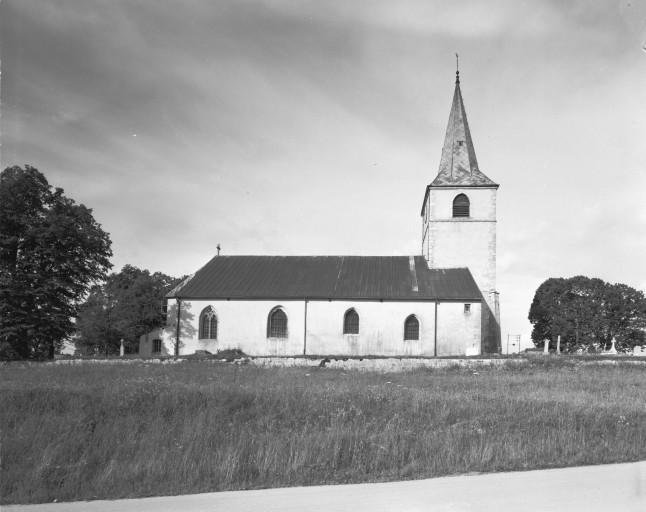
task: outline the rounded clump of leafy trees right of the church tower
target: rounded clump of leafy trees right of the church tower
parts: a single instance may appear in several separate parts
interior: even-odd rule
[[[529,321],[539,347],[554,344],[557,336],[566,349],[606,346],[613,338],[630,347],[644,342],[646,298],[630,286],[597,278],[550,278],[536,290]]]

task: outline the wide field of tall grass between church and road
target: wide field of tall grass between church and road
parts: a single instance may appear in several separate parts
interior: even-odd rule
[[[0,368],[2,503],[646,459],[646,368]],[[602,485],[603,482],[599,482]]]

